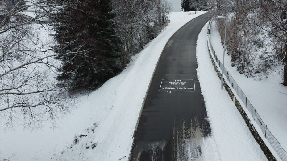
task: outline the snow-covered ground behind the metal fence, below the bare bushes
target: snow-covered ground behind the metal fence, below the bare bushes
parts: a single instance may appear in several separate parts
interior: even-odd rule
[[[217,57],[223,59],[223,46],[216,24],[211,24],[211,43]],[[240,74],[235,67],[231,66],[231,57],[225,55],[224,66],[238,83],[240,89],[247,96],[253,107],[256,109],[261,119],[267,124],[268,129],[282,145],[287,149],[287,87],[283,82],[279,69],[274,69],[268,78],[256,81],[256,78],[247,78]]]

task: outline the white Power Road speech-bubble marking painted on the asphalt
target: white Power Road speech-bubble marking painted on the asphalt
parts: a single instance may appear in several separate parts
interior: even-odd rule
[[[160,83],[161,92],[194,92],[195,83],[193,79],[162,79]]]

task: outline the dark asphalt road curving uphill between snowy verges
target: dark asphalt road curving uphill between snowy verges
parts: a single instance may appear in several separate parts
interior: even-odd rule
[[[131,160],[201,160],[202,138],[211,132],[197,77],[196,41],[203,14],[165,46],[135,134]]]

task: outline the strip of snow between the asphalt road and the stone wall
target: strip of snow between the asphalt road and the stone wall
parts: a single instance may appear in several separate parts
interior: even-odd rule
[[[210,160],[268,160],[249,131],[245,121],[225,89],[211,63],[206,43],[207,25],[198,35],[196,56],[198,80],[212,129],[213,140],[220,159]]]

